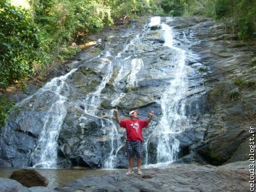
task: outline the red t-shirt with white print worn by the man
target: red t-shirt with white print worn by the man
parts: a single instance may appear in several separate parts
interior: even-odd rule
[[[148,126],[147,120],[120,120],[120,126],[126,129],[127,141],[143,141],[142,128]]]

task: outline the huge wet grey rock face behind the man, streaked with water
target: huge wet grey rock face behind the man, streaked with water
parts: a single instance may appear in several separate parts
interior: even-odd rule
[[[70,75],[52,79],[51,89],[46,84],[17,104],[0,129],[0,165],[126,168],[125,131],[115,122],[116,106],[121,118],[139,109],[147,119],[154,109],[154,120],[143,130],[143,164],[159,161],[157,129],[170,110],[164,106],[177,109],[168,122],[180,129],[172,138],[179,143],[175,160],[214,165],[245,160],[243,143],[256,119],[256,69],[250,65],[255,45],[244,46],[211,20],[161,20],[173,28],[174,47],[167,46],[164,26],[150,29],[145,19],[88,36],[98,44],[65,65]],[[182,56],[186,78],[176,82]],[[174,93],[186,86],[175,106],[174,96],[163,102],[171,85]],[[47,142],[50,136],[55,144]],[[57,158],[45,160],[45,150],[45,157],[58,153]]]

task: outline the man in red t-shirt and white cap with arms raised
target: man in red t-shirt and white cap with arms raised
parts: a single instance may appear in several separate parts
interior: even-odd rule
[[[121,127],[126,129],[126,145],[125,145],[125,153],[129,158],[129,171],[125,173],[126,175],[130,175],[133,172],[133,157],[137,156],[137,166],[138,166],[138,174],[141,172],[141,159],[142,159],[142,145],[143,145],[143,136],[142,136],[142,128],[147,127],[150,121],[154,116],[154,111],[150,111],[149,118],[147,120],[138,119],[138,110],[131,111],[129,113],[130,119],[120,120],[118,116],[118,109],[114,109],[116,122],[120,124]]]

